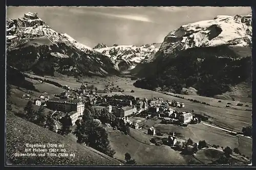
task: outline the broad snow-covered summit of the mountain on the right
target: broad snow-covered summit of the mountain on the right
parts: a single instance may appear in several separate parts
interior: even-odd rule
[[[218,15],[211,20],[203,20],[183,25],[170,32],[160,47],[164,54],[174,50],[200,46],[247,46],[251,44],[252,15]]]

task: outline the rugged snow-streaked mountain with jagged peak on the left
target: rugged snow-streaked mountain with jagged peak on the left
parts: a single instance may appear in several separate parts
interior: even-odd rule
[[[52,30],[36,13],[7,20],[7,63],[37,74],[106,76],[118,74],[105,55],[83,45],[68,34]]]

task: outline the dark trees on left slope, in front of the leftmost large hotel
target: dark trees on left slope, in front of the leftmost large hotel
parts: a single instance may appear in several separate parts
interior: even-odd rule
[[[51,117],[50,111],[47,115],[44,114],[44,111],[44,107],[40,107],[38,110],[34,110],[33,102],[28,101],[27,105],[24,107],[24,112],[20,111],[17,115],[25,118],[29,122],[53,131],[55,126],[55,120]]]

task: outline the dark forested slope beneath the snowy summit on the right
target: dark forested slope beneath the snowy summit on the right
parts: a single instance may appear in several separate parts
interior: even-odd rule
[[[251,57],[233,59],[232,54],[230,57],[221,56],[223,55],[200,56],[197,52],[170,56],[168,61],[159,64],[161,67],[158,67],[158,74],[137,80],[134,85],[150,90],[166,86],[176,93],[180,93],[183,87],[194,87],[200,95],[214,96],[228,91],[230,85],[250,79]]]

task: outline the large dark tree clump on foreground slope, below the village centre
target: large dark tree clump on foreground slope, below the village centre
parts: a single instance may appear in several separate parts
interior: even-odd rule
[[[110,147],[108,133],[94,121],[89,109],[84,110],[81,120],[77,120],[73,134],[77,137],[78,143],[86,144],[111,157],[115,155],[115,151]]]

